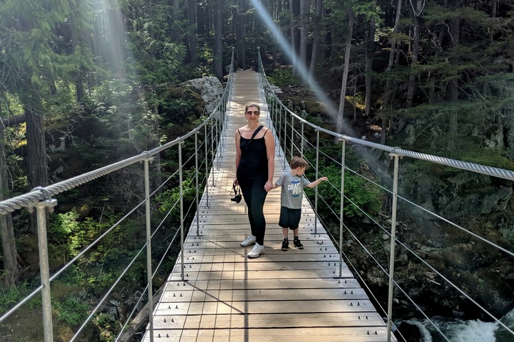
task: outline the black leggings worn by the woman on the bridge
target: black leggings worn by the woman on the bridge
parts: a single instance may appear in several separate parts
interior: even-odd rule
[[[252,228],[252,235],[257,238],[257,243],[261,246],[264,245],[264,234],[266,232],[266,219],[263,212],[264,201],[268,194],[264,189],[266,181],[266,179],[256,179],[239,182],[243,198],[248,207],[248,219],[250,228]]]

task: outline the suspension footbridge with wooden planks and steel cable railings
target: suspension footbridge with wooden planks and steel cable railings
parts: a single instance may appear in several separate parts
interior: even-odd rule
[[[263,72],[262,64],[259,65],[258,73],[255,71],[234,73],[232,64],[230,78],[217,110],[192,132],[138,156],[84,173],[71,180],[52,184],[45,188],[37,188],[25,195],[0,201],[0,215],[14,212],[20,208],[36,210],[41,268],[41,285],[7,313],[3,313],[0,322],[8,321],[9,317],[16,313],[16,310],[19,310],[32,297],[40,294],[44,337],[37,340],[53,341],[56,332],[53,331],[51,283],[61,276],[69,266],[88,253],[103,236],[122,224],[126,217],[136,210],[140,210],[145,212],[147,241],[134,258],[144,256],[144,252],[146,252],[147,284],[145,293],[134,305],[132,313],[123,317],[123,321],[119,321],[121,330],[116,341],[125,341],[123,331],[127,330],[132,323],[136,308],[145,301],[145,297],[149,323],[145,333],[141,336],[142,341],[272,341],[275,339],[283,341],[313,341],[314,339],[396,341],[396,337],[392,333],[394,328],[392,322],[395,319],[393,289],[397,289],[397,293],[406,295],[401,284],[395,280],[396,245],[401,245],[408,253],[411,253],[411,258],[419,258],[419,262],[437,273],[447,286],[454,286],[456,291],[459,291],[469,302],[475,304],[480,310],[484,310],[485,315],[489,315],[491,321],[495,321],[506,332],[512,334],[511,336],[514,336],[514,332],[505,326],[499,317],[489,313],[475,298],[455,286],[451,279],[446,278],[438,269],[417,256],[404,241],[399,241],[395,236],[397,200],[412,204],[418,210],[423,210],[425,215],[434,215],[438,219],[444,220],[456,230],[468,232],[460,225],[398,195],[398,164],[401,157],[416,158],[503,180],[514,180],[514,173],[509,170],[379,145],[325,130],[309,123],[286,108],[275,97]],[[332,135],[341,141],[342,160],[331,161],[341,167],[341,172],[353,172],[345,165],[344,151],[345,144],[348,142],[363,147],[382,149],[393,158],[394,170],[391,175],[393,186],[391,189],[382,188],[392,198],[391,226],[384,227],[381,223],[375,222],[381,237],[389,236],[391,241],[389,243],[389,265],[380,265],[380,262],[363,246],[363,249],[369,254],[369,258],[377,262],[384,272],[384,278],[389,279],[387,307],[380,306],[376,300],[370,300],[369,296],[375,296],[375,294],[369,288],[366,290],[361,288],[363,284],[366,285],[365,279],[354,278],[354,275],[359,276],[358,270],[352,265],[347,265],[348,260],[343,260],[344,247],[341,237],[339,244],[334,245],[334,239],[331,239],[330,233],[319,219],[318,206],[325,206],[332,211],[340,208],[341,232],[339,236],[343,236],[344,230],[353,239],[359,241],[359,236],[356,236],[351,228],[344,224],[341,214],[345,201],[350,201],[349,197],[345,195],[344,178],[341,178],[341,184],[328,182],[330,186],[334,186],[341,192],[341,201],[338,203],[327,203],[318,196],[317,191],[315,192],[315,201],[309,201],[307,197],[304,197],[302,221],[300,222],[300,238],[305,246],[302,250],[294,247],[288,252],[280,250],[282,241],[282,230],[278,227],[280,190],[271,191],[265,203],[267,219],[265,254],[256,259],[246,257],[251,247],[241,247],[240,245],[241,241],[249,234],[245,204],[231,201],[230,191],[235,172],[234,132],[237,127],[245,124],[244,106],[249,101],[262,105],[260,120],[271,127],[276,137],[275,179],[286,171],[287,160],[291,155],[304,154],[304,146],[317,152],[315,160],[310,161],[310,164],[318,175],[319,154],[323,153],[319,147],[320,132]],[[304,129],[307,128],[315,132],[315,145],[308,145],[310,143],[304,133]],[[199,136],[202,138],[200,139]],[[195,146],[192,149],[193,152],[186,156],[183,155],[184,143]],[[178,149],[178,169],[172,177],[179,180],[180,198],[171,210],[175,210],[175,213],[178,212],[182,223],[173,238],[173,242],[176,242],[175,238],[180,239],[180,254],[172,273],[162,286],[162,292],[159,291],[158,295],[154,296],[154,286],[152,285],[154,272],[162,264],[168,251],[162,254],[159,262],[152,262],[152,236],[156,230],[162,228],[164,220],[157,226],[152,226],[150,203],[154,195],[160,191],[160,186],[155,191],[150,191],[149,169],[154,156],[169,148]],[[200,155],[204,155],[204,158],[199,159]],[[82,250],[62,269],[50,274],[45,212],[48,208],[57,205],[54,197],[58,197],[60,193],[71,188],[138,162],[142,162],[144,165],[141,174],[145,180],[145,200],[128,212],[107,232],[99,236],[97,241]],[[196,204],[191,206],[196,208],[196,212],[193,222],[188,227],[184,226],[184,217],[191,212],[184,208],[184,196],[182,195],[183,191],[186,191],[183,188],[186,186],[183,182],[183,168],[186,167],[186,164],[190,166],[194,164],[192,169],[196,171],[196,184],[187,185],[195,187],[196,193]],[[199,179],[198,171],[200,169],[205,170],[204,179]],[[513,252],[508,249],[495,245],[472,232],[469,234],[483,243],[499,249],[504,254],[514,256]],[[361,245],[363,244],[361,243]],[[84,328],[95,317],[99,309],[108,302],[114,287],[131,265],[132,262],[127,265],[125,271],[99,300],[97,306],[88,310],[87,319],[82,326],[77,328],[71,341],[79,341]],[[352,267],[353,273],[348,266]],[[408,295],[406,297],[412,302],[414,308],[419,309],[419,306]],[[420,315],[425,315],[426,319],[430,321],[430,317],[422,311]],[[384,319],[384,317],[386,318]],[[437,326],[435,330],[441,334],[443,339],[450,341]]]

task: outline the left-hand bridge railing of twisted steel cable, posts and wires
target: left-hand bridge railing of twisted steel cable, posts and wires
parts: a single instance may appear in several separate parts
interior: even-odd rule
[[[230,75],[234,72],[234,49],[232,49],[232,60],[230,63]],[[155,149],[151,149],[150,151],[144,151],[143,153],[133,156],[131,158],[127,158],[125,160],[121,160],[119,162],[115,162],[114,164],[110,164],[106,167],[101,167],[100,169],[96,169],[94,171],[90,171],[88,173],[84,173],[82,175],[78,175],[69,180],[64,180],[62,182],[58,182],[56,184],[52,184],[46,187],[35,188],[33,191],[26,193],[24,195],[20,195],[17,197],[12,197],[10,199],[6,199],[4,201],[0,201],[0,215],[7,215],[16,210],[20,210],[22,208],[27,208],[28,210],[36,210],[37,217],[37,225],[38,225],[38,248],[39,248],[39,259],[40,259],[40,286],[34,289],[31,293],[29,293],[23,300],[17,303],[14,307],[10,308],[5,313],[2,313],[0,317],[0,323],[4,323],[12,314],[16,313],[24,304],[27,304],[34,296],[38,293],[41,293],[42,299],[42,326],[44,330],[44,340],[45,341],[53,341],[53,318],[52,318],[52,308],[55,307],[56,303],[52,302],[51,299],[51,284],[55,282],[62,273],[66,270],[72,268],[72,266],[77,265],[77,262],[84,258],[88,252],[92,252],[95,250],[103,239],[106,238],[109,234],[115,234],[117,229],[125,229],[123,226],[127,219],[132,215],[141,214],[144,212],[145,215],[145,231],[146,231],[146,241],[143,241],[143,245],[139,246],[139,250],[134,252],[134,256],[130,258],[127,262],[127,265],[124,269],[121,269],[119,272],[119,276],[113,280],[112,285],[103,294],[103,297],[99,302],[97,302],[95,308],[88,310],[90,313],[82,325],[77,329],[77,331],[73,332],[74,335],[71,338],[71,341],[75,341],[79,339],[79,335],[83,332],[84,328],[90,323],[91,319],[95,317],[99,313],[99,309],[102,306],[106,306],[106,302],[110,298],[112,291],[115,286],[117,286],[123,276],[127,272],[130,271],[131,267],[133,267],[134,263],[138,258],[144,258],[146,256],[146,272],[147,272],[147,283],[145,288],[145,293],[141,293],[138,296],[138,300],[136,304],[134,304],[134,308],[130,315],[127,317],[123,317],[125,320],[120,323],[123,325],[123,328],[120,329],[120,334],[117,336],[118,340],[123,340],[121,337],[123,330],[127,327],[128,323],[130,323],[133,318],[134,313],[137,308],[140,308],[140,304],[145,301],[145,295],[147,300],[147,308],[149,315],[149,329],[153,330],[152,324],[152,315],[154,313],[154,304],[153,304],[153,287],[154,287],[154,276],[158,269],[162,266],[164,259],[169,256],[169,250],[174,244],[178,244],[178,240],[180,239],[180,250],[184,249],[184,234],[186,227],[184,224],[186,223],[185,218],[187,216],[191,217],[193,215],[193,209],[197,208],[199,204],[199,197],[202,195],[202,192],[206,191],[207,200],[208,200],[208,191],[211,184],[208,184],[208,174],[212,167],[216,167],[214,164],[215,156],[218,153],[219,145],[223,144],[221,141],[221,133],[222,130],[225,129],[225,113],[228,110],[228,99],[230,94],[232,93],[232,77],[228,77],[228,82],[225,85],[225,89],[223,91],[223,95],[217,104],[217,108],[194,130],[188,132],[184,136],[180,136],[175,140],[156,147]],[[186,148],[184,148],[186,147]],[[176,149],[176,151],[173,151]],[[178,158],[178,162],[174,170],[171,171],[171,175],[156,186],[156,189],[150,192],[151,180],[151,166],[154,158],[160,154],[162,151],[173,151],[173,156]],[[175,160],[173,160],[175,162]],[[139,196],[144,198],[143,201],[140,201],[139,204],[134,206],[131,210],[126,212],[119,221],[114,223],[110,228],[106,229],[101,233],[100,236],[95,238],[93,243],[90,243],[87,247],[84,247],[77,255],[75,255],[69,262],[66,262],[62,268],[60,268],[56,273],[50,275],[49,268],[49,252],[48,252],[48,243],[47,243],[47,212],[53,212],[53,208],[57,205],[58,199],[56,197],[65,191],[69,191],[72,188],[76,188],[83,184],[87,184],[97,178],[106,177],[107,175],[115,175],[117,171],[123,171],[123,169],[127,169],[128,167],[136,164],[143,163],[143,172],[140,174],[143,175],[144,182],[144,193],[141,193]],[[156,168],[158,165],[156,165]],[[184,182],[184,172],[188,172],[188,175],[195,175],[194,181],[190,179],[189,182]],[[156,173],[158,173],[156,171]],[[201,179],[199,177],[202,177]],[[155,212],[153,210],[152,201],[156,201],[156,195],[162,192],[164,186],[167,184],[178,184],[179,195],[178,197],[173,197],[170,199],[171,203],[169,204],[169,208],[164,213],[161,213],[160,216],[162,221],[158,223],[156,226],[153,226],[151,222],[151,218],[154,219],[156,217]],[[194,188],[194,190],[193,190]],[[195,200],[192,201],[188,208],[184,208],[184,193],[186,191],[195,191]],[[171,197],[171,196],[170,196]],[[195,207],[196,204],[196,207]],[[154,216],[152,216],[154,215]],[[171,235],[173,235],[173,239],[169,241],[167,244],[167,249],[164,252],[160,252],[160,255],[156,256],[156,251],[152,250],[152,239],[159,231],[167,229],[164,228],[165,222],[170,215],[174,215],[175,217],[180,217],[180,227],[176,227],[175,230],[172,230]],[[198,212],[196,212],[198,215]],[[196,217],[196,221],[199,221],[199,218]],[[198,228],[198,227],[197,227]],[[191,228],[194,229],[194,228]],[[120,241],[118,242],[120,245],[123,244],[134,244],[134,241]],[[99,254],[99,258],[106,258],[106,254],[108,252],[104,252],[103,254]],[[184,254],[182,253],[182,259]],[[158,262],[153,261],[158,258]],[[184,260],[182,260],[182,264]],[[184,274],[182,273],[182,279],[184,279]],[[87,282],[84,279],[84,282]],[[23,319],[18,318],[17,321],[23,324]],[[31,331],[30,327],[33,326],[33,323],[27,324],[27,339],[29,336],[34,337],[34,332]],[[150,336],[153,338],[154,334],[151,333]]]

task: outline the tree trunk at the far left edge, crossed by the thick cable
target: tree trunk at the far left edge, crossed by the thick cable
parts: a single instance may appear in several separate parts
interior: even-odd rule
[[[1,112],[1,108],[0,108]],[[0,201],[9,198],[7,162],[5,162],[4,125],[0,123]],[[16,242],[12,228],[12,215],[0,215],[0,237],[2,240],[3,273],[0,274],[3,289],[12,286],[19,277],[19,265],[16,260]]]

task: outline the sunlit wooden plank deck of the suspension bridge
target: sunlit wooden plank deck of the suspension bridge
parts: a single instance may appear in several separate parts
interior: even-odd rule
[[[245,125],[245,103],[262,105],[258,84],[254,71],[234,75],[227,136],[210,174],[208,198],[201,199],[199,236],[195,221],[184,243],[186,281],[179,257],[155,304],[154,341],[387,341],[384,321],[346,265],[338,278],[339,254],[321,225],[313,234],[315,216],[305,198],[304,249],[280,250],[279,188],[265,204],[265,254],[246,257],[252,248],[240,245],[250,232],[246,206],[230,201],[234,132]],[[261,122],[269,125],[265,108],[261,112]],[[279,150],[275,180],[283,172]],[[149,331],[143,341],[150,341]]]

